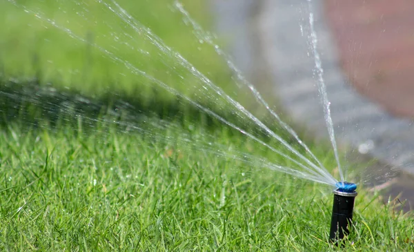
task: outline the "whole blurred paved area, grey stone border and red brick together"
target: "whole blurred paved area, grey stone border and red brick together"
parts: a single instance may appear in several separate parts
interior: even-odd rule
[[[377,159],[368,173],[393,174],[394,195],[414,188],[414,2],[215,1],[217,30],[237,65],[296,126],[326,138],[308,54],[309,12],[339,144],[349,159]],[[402,170],[400,170],[402,168]],[[399,172],[397,172],[399,171]],[[411,198],[412,199],[412,198]]]

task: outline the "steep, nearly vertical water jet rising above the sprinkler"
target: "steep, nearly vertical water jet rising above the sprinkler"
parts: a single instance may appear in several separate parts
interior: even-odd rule
[[[345,181],[344,174],[341,168],[341,164],[339,163],[339,155],[338,155],[337,144],[335,140],[335,130],[333,128],[333,121],[331,117],[331,102],[329,101],[328,94],[326,93],[326,85],[325,85],[325,80],[324,80],[324,68],[322,68],[322,60],[317,50],[318,39],[317,39],[316,30],[315,30],[315,20],[313,18],[313,12],[312,12],[312,4],[311,4],[312,0],[307,0],[307,1],[308,1],[308,7],[309,7],[309,27],[311,29],[311,37],[310,37],[311,50],[313,52],[313,57],[315,58],[317,87],[318,87],[318,91],[322,99],[322,107],[324,108],[325,124],[326,124],[326,128],[328,129],[329,139],[331,139],[333,151],[335,153],[335,159],[338,165],[339,176],[341,177],[342,181]]]

